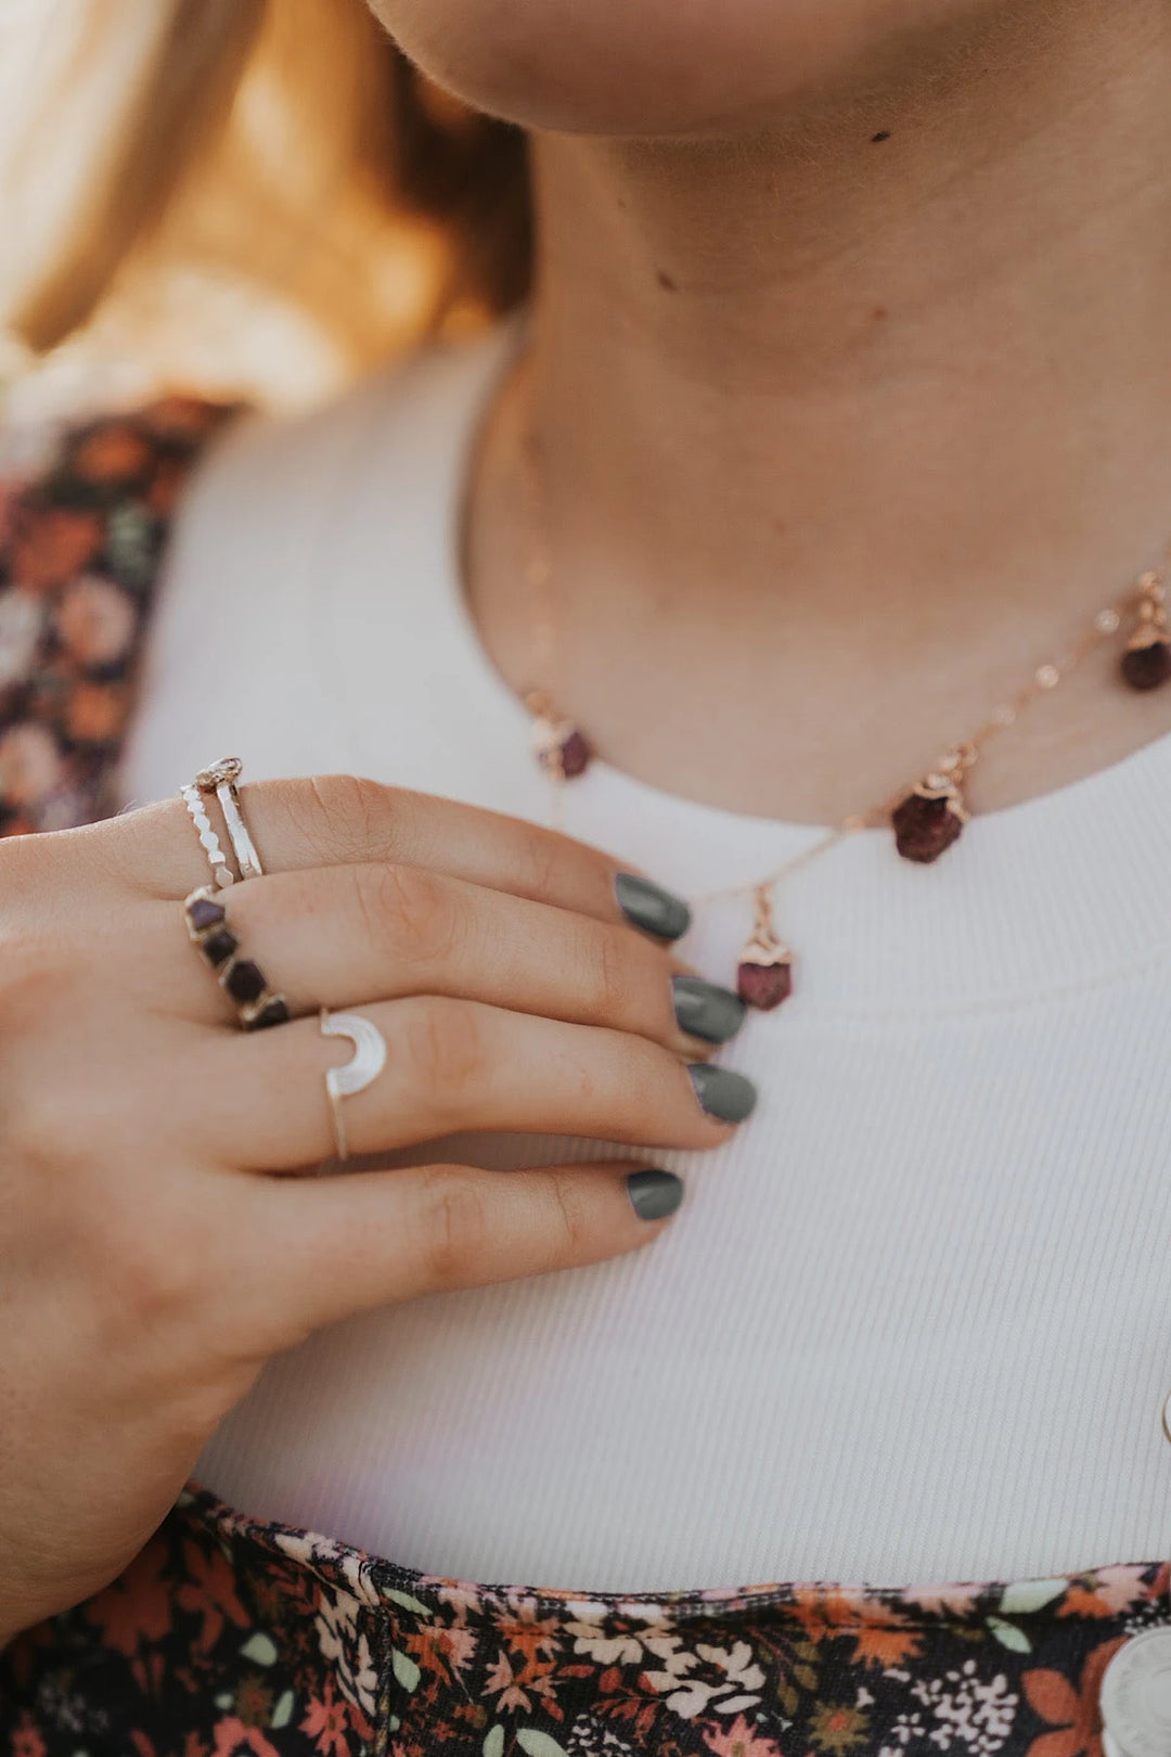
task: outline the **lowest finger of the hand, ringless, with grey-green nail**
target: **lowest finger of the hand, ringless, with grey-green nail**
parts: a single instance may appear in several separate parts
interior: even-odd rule
[[[260,1207],[251,1237],[263,1239],[241,1297],[256,1300],[248,1318],[279,1348],[420,1293],[623,1256],[658,1237],[683,1181],[613,1161],[516,1172],[423,1165],[249,1177],[239,1195]]]

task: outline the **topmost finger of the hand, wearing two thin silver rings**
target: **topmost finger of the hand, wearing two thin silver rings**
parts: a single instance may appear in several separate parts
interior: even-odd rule
[[[353,775],[241,785],[241,806],[269,871],[393,861],[490,891],[553,903],[597,921],[627,921],[664,940],[690,926],[686,903],[629,863],[555,829],[483,806],[384,787]],[[214,801],[209,810],[218,812]],[[228,840],[219,828],[219,840]],[[146,806],[109,833],[118,875],[149,896],[184,898],[207,882],[207,857],[181,799]]]

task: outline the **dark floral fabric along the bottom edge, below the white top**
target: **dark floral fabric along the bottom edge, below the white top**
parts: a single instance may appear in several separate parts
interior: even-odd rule
[[[1167,1565],[1011,1585],[469,1585],[190,1483],[130,1569],[0,1657],[11,1757],[1101,1757]]]

